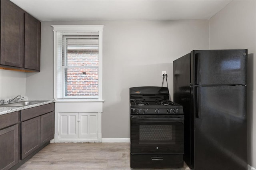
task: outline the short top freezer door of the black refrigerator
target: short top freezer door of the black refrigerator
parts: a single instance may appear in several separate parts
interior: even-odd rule
[[[246,85],[247,49],[191,51],[191,85]]]

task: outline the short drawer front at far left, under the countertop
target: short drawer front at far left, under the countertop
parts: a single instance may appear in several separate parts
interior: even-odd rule
[[[19,122],[19,112],[7,113],[0,116],[0,129]]]

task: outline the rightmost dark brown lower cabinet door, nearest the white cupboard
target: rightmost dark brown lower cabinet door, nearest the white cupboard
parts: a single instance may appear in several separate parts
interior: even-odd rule
[[[54,112],[41,116],[41,145],[54,137]]]

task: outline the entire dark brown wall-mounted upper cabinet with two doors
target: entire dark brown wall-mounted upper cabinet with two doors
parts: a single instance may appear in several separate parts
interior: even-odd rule
[[[41,22],[1,0],[0,69],[40,71]]]

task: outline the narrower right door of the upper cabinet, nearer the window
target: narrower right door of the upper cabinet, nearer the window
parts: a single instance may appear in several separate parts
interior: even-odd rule
[[[24,68],[40,71],[41,22],[25,13]]]

